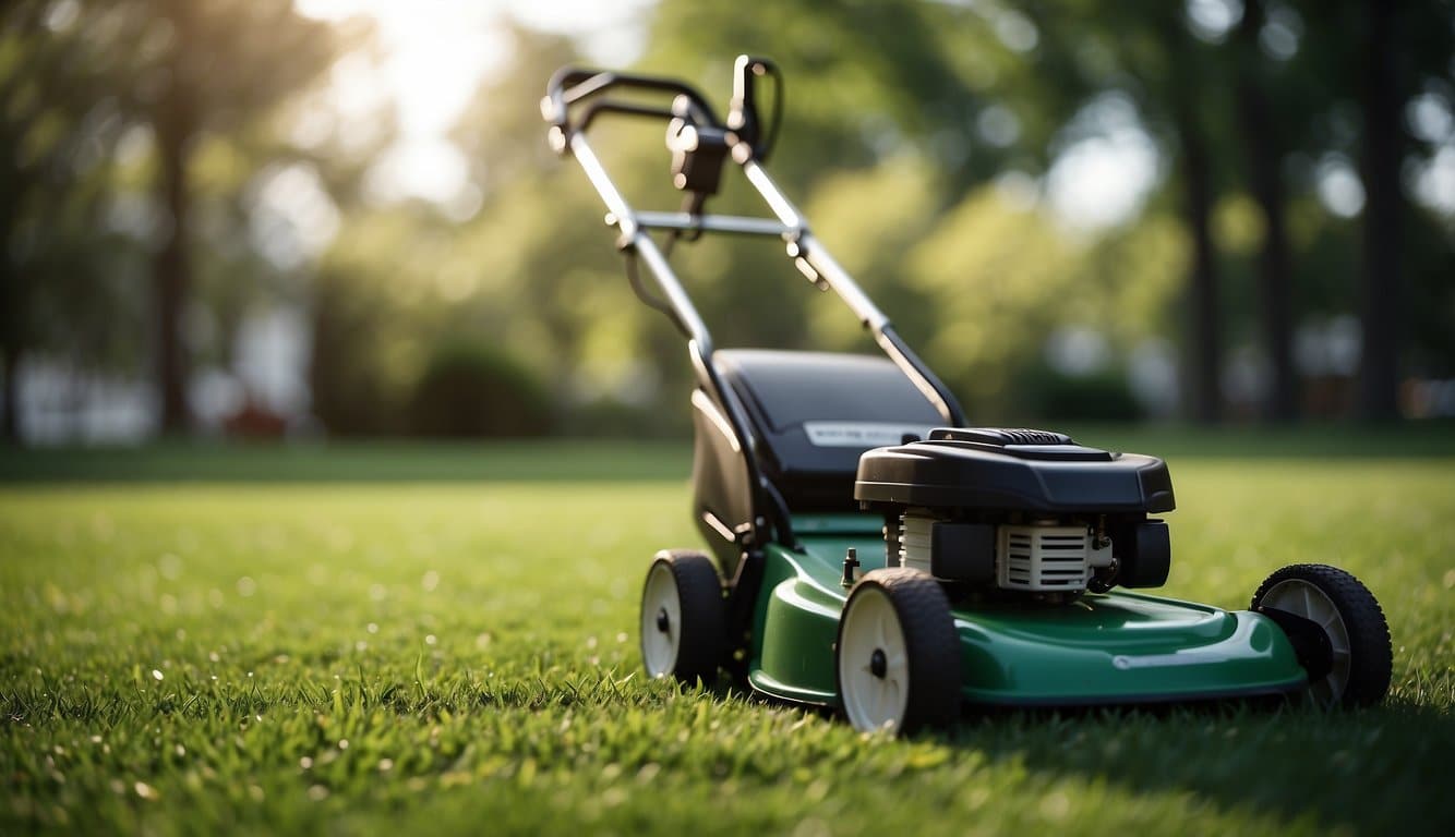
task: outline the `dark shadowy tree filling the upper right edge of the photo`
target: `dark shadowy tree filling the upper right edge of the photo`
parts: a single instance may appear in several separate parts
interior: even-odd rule
[[[1455,372],[1448,337],[1455,227],[1448,208],[1411,199],[1422,170],[1451,140],[1449,129],[1420,129],[1419,115],[1455,110],[1455,4],[1295,0],[1293,7],[1308,32],[1288,81],[1314,103],[1289,119],[1301,132],[1293,147],[1304,160],[1353,163],[1363,186],[1362,202],[1326,211],[1331,234],[1301,254],[1320,269],[1301,270],[1301,280],[1317,288],[1327,311],[1359,317],[1352,414],[1394,420],[1404,375]],[[1318,186],[1321,166],[1310,169],[1304,180]]]

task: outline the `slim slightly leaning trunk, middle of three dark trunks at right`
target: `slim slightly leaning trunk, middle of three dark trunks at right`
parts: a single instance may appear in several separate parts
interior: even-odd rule
[[[1272,388],[1264,401],[1264,418],[1288,423],[1298,418],[1298,379],[1292,350],[1292,269],[1288,253],[1288,227],[1283,214],[1283,151],[1275,125],[1276,115],[1264,92],[1266,64],[1259,51],[1263,26],[1260,0],[1245,0],[1238,25],[1238,110],[1248,180],[1263,215],[1263,247],[1259,253],[1259,301],[1263,314],[1263,349],[1272,372]]]

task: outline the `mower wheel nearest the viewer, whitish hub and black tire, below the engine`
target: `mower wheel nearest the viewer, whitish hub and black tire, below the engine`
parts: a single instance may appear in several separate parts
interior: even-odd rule
[[[890,657],[901,650],[902,667]],[[940,584],[905,567],[867,573],[838,622],[834,677],[840,711],[856,729],[911,734],[953,724],[960,712],[960,638]]]

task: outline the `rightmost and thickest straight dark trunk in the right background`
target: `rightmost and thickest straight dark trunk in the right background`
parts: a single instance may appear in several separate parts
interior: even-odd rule
[[[1359,416],[1398,418],[1400,387],[1400,94],[1394,4],[1368,0],[1363,99],[1363,356]]]

